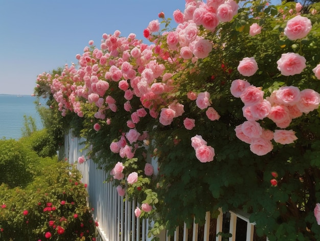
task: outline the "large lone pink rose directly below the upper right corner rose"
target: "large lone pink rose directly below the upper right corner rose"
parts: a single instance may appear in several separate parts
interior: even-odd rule
[[[284,76],[300,74],[307,67],[305,57],[295,53],[282,54],[277,64]]]

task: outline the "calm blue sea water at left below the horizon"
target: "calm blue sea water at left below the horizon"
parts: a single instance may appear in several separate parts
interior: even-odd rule
[[[16,139],[22,136],[21,128],[24,127],[24,115],[32,116],[37,129],[42,129],[40,116],[36,111],[36,97],[16,95],[0,95],[0,139]],[[43,101],[43,103],[41,103]],[[45,104],[41,99],[40,104]]]

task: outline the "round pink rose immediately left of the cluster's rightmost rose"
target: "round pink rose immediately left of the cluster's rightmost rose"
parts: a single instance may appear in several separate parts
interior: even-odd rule
[[[294,105],[300,100],[300,90],[295,86],[282,86],[276,93],[279,104]]]

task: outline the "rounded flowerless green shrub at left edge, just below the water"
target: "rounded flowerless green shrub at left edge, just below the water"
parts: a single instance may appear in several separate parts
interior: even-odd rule
[[[9,187],[27,185],[32,179],[28,168],[30,159],[28,149],[20,142],[0,140],[0,184]]]

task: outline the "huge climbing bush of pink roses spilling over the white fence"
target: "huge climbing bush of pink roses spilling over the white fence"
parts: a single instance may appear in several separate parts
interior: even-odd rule
[[[35,92],[143,205],[135,215],[156,218],[154,234],[222,207],[250,213],[269,240],[317,240],[319,8],[188,0],[175,28],[164,13],[146,24],[149,45],[103,34]]]

